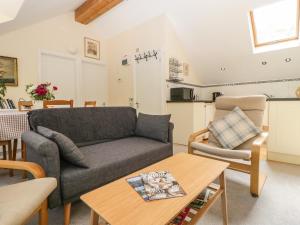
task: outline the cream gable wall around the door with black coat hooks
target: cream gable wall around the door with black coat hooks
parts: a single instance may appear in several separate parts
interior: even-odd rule
[[[165,15],[155,17],[148,22],[127,30],[107,42],[109,68],[109,104],[128,105],[129,98],[134,97],[134,78],[132,63],[121,65],[122,58],[127,55],[131,61],[134,55],[148,50],[161,50],[164,58],[164,73],[162,79],[168,79],[168,58],[176,57],[189,63],[183,46],[171,23]],[[139,52],[136,50],[139,49]],[[198,76],[193,72],[185,77],[189,82],[198,83]]]

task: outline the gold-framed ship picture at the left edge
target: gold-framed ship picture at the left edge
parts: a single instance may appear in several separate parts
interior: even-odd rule
[[[0,56],[0,81],[6,86],[18,86],[18,59]]]

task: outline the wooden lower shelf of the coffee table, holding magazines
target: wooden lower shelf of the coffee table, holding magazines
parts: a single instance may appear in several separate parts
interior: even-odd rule
[[[216,187],[218,185],[216,184],[212,184],[212,186]],[[220,187],[218,188],[212,188],[210,186],[208,186],[208,188],[212,189],[214,191],[214,194],[212,196],[210,196],[210,198],[207,200],[206,203],[204,203],[202,205],[201,208],[196,209],[192,206],[188,206],[185,209],[188,209],[189,212],[186,214],[185,218],[183,221],[181,222],[171,222],[169,223],[169,225],[194,225],[197,223],[197,221],[205,215],[205,213],[210,209],[210,207],[218,200],[218,198],[221,196],[221,194],[223,193],[223,189],[221,189]],[[182,214],[179,213],[178,215]]]

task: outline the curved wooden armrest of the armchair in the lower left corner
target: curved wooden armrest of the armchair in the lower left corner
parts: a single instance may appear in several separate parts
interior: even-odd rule
[[[45,172],[43,168],[36,163],[0,160],[0,168],[26,170],[27,172],[31,173],[35,178],[45,177]]]

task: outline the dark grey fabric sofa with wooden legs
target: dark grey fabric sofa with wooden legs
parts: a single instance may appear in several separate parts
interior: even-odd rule
[[[29,113],[31,131],[22,135],[27,161],[41,165],[58,187],[49,207],[74,202],[80,195],[172,156],[173,124],[168,143],[135,135],[136,111],[130,107],[40,109]],[[56,143],[39,135],[37,126],[69,137],[86,157],[89,168],[60,157]]]

